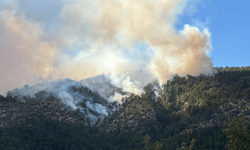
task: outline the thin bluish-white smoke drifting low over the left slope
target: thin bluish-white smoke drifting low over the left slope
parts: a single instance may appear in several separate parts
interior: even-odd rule
[[[9,91],[7,95],[20,102],[43,100],[51,96],[60,100],[65,109],[73,111],[79,109],[92,124],[98,119],[102,121],[115,110],[116,103],[91,91],[80,82],[70,79],[42,82],[33,86],[26,85]]]

